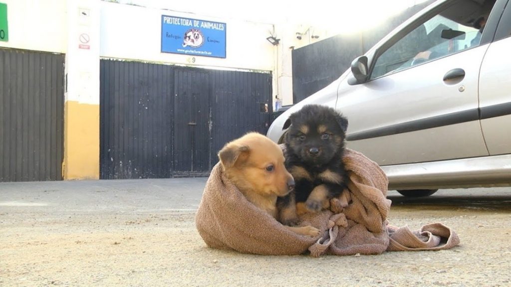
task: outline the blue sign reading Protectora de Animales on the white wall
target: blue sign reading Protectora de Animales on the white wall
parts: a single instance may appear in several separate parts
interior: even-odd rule
[[[225,58],[225,26],[161,15],[161,52]]]

